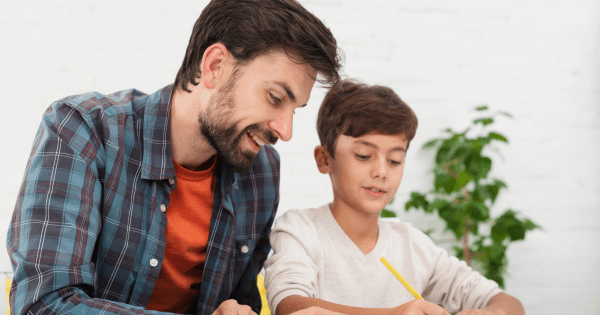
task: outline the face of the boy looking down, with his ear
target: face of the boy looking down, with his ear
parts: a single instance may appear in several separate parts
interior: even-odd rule
[[[317,147],[317,165],[330,175],[335,206],[378,214],[400,186],[406,146],[404,135],[370,133],[358,138],[340,135],[334,159]]]

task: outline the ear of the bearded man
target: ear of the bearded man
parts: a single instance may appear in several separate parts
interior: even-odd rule
[[[200,83],[207,89],[213,89],[221,80],[227,81],[228,68],[232,56],[227,47],[221,43],[214,43],[204,51],[200,63]],[[224,84],[225,82],[221,83]]]

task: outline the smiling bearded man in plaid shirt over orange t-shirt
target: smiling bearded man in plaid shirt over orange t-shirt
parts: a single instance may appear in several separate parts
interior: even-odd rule
[[[294,0],[213,0],[173,86],[53,103],[8,232],[13,313],[258,313],[279,201],[270,144],[339,67]]]

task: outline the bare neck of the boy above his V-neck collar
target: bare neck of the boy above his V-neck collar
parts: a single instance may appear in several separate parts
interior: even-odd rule
[[[340,225],[344,233],[363,252],[370,253],[379,238],[379,213],[369,214],[357,211],[344,203],[334,202],[329,204],[331,214]]]

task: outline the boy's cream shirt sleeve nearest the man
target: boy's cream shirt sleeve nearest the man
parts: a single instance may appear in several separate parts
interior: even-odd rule
[[[286,212],[271,233],[273,255],[265,263],[265,288],[273,313],[288,296],[319,298],[315,262],[321,250],[314,224],[301,212]]]

